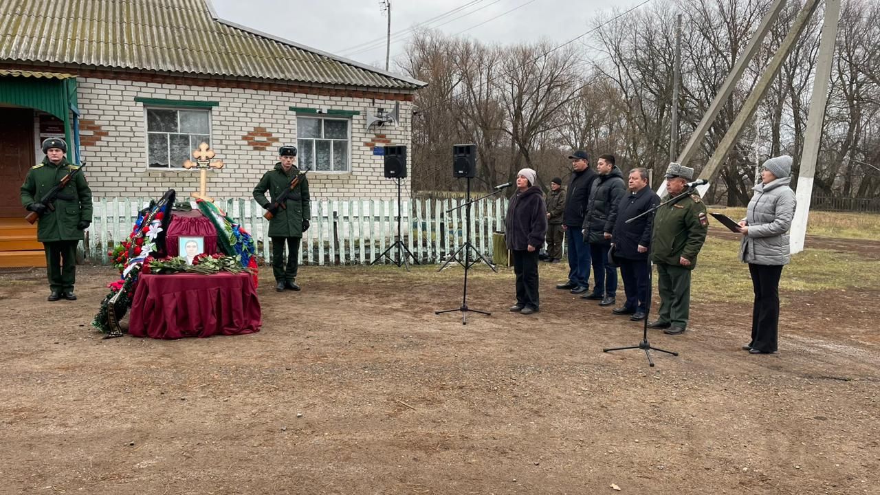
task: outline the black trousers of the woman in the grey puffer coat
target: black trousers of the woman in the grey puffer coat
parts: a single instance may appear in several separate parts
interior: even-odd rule
[[[755,291],[752,306],[752,349],[777,351],[779,337],[779,279],[783,265],[749,263],[749,275]]]

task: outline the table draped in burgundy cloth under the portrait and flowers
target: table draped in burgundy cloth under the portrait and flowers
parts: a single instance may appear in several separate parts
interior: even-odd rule
[[[260,331],[249,273],[141,275],[128,333],[152,338],[233,336]]]

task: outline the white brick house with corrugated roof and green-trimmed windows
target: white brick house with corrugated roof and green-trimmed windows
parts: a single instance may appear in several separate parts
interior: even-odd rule
[[[88,162],[96,198],[187,196],[199,174],[181,164],[202,140],[225,164],[210,196],[251,197],[284,144],[313,196],[397,195],[374,152],[410,143],[420,81],[216,18],[208,0],[19,0],[0,5],[0,26],[0,217],[21,212],[18,186],[52,135]]]

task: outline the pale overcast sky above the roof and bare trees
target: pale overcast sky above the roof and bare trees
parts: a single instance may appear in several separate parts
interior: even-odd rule
[[[334,55],[385,67],[387,20],[379,0],[211,2],[220,18]],[[461,33],[486,42],[509,44],[545,38],[562,43],[590,29],[590,18],[599,11],[610,11],[612,7],[627,9],[639,3],[639,0],[392,0],[392,61],[394,55],[400,55],[406,47],[406,31],[422,23],[443,33]],[[460,10],[454,11],[459,7]],[[448,15],[438,18],[444,14]],[[399,32],[404,33],[395,35]],[[363,46],[370,41],[376,43]],[[362,47],[356,48],[358,46]]]

